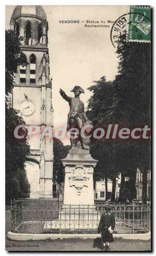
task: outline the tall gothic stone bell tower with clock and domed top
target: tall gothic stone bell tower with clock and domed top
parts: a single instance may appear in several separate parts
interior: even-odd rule
[[[46,14],[40,5],[18,5],[10,27],[22,37],[21,50],[28,62],[14,75],[12,106],[20,110],[28,128],[39,127],[28,140],[31,154],[27,157],[27,177],[39,197],[52,197],[53,140],[40,136],[45,127],[53,127]]]

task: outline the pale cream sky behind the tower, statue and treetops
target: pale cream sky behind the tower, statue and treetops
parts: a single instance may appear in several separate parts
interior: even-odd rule
[[[15,5],[6,5],[6,29],[10,28],[9,22],[15,7]],[[50,77],[52,76],[53,79],[52,104],[54,128],[57,129],[66,124],[69,112],[68,102],[60,96],[59,88],[67,95],[74,96],[70,91],[75,85],[81,86],[85,94],[82,93],[80,98],[87,108],[87,101],[91,96],[87,88],[94,84],[93,81],[99,80],[102,76],[106,76],[107,81],[113,80],[117,75],[118,59],[110,39],[113,24],[108,24],[107,20],[117,20],[128,12],[128,6],[42,5],[42,7],[49,25]],[[60,23],[61,20],[80,20],[80,23],[65,24]],[[109,27],[85,28],[85,24],[98,25],[87,23],[87,20],[94,20],[94,22],[98,20],[99,24],[109,25]],[[65,145],[70,144],[68,138],[61,140]]]

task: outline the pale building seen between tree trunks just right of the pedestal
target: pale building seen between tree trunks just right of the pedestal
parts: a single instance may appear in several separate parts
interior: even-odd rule
[[[116,178],[115,199],[119,198],[120,183],[121,183],[121,174],[119,175],[119,178]],[[111,200],[112,180],[107,181],[107,188],[108,188],[107,199]],[[100,181],[96,181],[95,199],[105,201],[105,198],[106,198],[105,179],[100,180]]]

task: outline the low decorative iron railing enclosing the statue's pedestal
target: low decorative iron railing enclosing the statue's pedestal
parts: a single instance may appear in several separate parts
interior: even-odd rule
[[[107,203],[108,204],[108,203]],[[149,204],[112,204],[114,233],[150,230]],[[58,199],[15,199],[11,202],[11,231],[15,233],[96,233],[105,204],[62,205]]]

